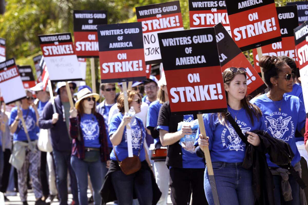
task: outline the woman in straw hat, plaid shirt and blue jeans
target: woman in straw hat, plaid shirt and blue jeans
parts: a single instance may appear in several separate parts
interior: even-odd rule
[[[98,94],[84,88],[77,93],[77,99],[75,108],[70,110],[69,132],[73,139],[71,165],[77,178],[79,203],[88,204],[89,173],[94,204],[100,204],[99,189],[110,164],[105,122],[103,116],[95,112]]]

